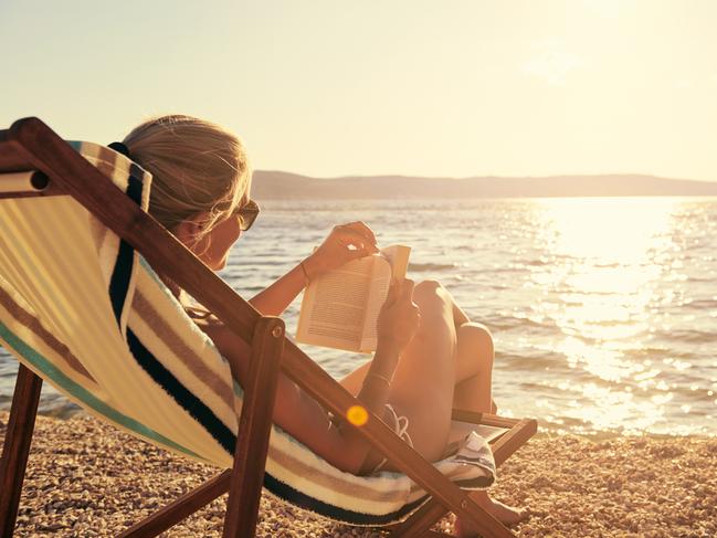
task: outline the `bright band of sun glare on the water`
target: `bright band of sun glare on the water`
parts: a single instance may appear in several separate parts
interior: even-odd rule
[[[671,294],[657,284],[664,286],[665,272],[678,270],[665,266],[662,255],[679,249],[673,242],[676,203],[667,198],[536,202],[546,263],[533,275],[531,285],[544,294],[534,312],[559,328],[552,350],[573,372],[569,382],[556,381],[572,397],[560,414],[587,429],[625,429],[626,418],[626,429],[634,431],[665,422],[675,386],[662,376],[663,361],[650,357],[650,340],[656,307]]]

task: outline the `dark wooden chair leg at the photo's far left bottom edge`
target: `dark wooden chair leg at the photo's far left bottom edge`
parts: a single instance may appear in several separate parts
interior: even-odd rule
[[[21,363],[0,460],[0,536],[3,537],[14,531],[41,391],[42,378]]]

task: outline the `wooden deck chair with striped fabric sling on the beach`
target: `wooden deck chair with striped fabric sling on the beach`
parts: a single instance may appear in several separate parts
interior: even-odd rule
[[[43,380],[135,436],[224,471],[125,530],[157,536],[229,492],[225,537],[255,532],[262,487],[354,525],[423,536],[446,513],[513,534],[468,497],[536,432],[534,420],[454,411],[473,430],[429,463],[379,418],[357,428],[400,473],[334,468],[272,424],[283,371],[337,418],[360,402],[146,213],[151,176],[36,118],[0,130],[0,342],[20,361],[2,460],[12,536]],[[244,387],[158,278],[161,271],[251,346]],[[476,433],[477,432],[477,433]],[[483,443],[489,439],[489,450]]]

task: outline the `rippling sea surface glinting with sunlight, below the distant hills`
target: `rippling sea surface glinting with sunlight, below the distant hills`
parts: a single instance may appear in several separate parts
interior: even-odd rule
[[[249,297],[354,220],[412,246],[409,276],[441,281],[493,331],[503,414],[717,434],[716,198],[267,202],[222,276]],[[337,378],[368,359],[304,348]],[[0,408],[15,371],[0,350]],[[42,412],[74,409],[45,386]]]

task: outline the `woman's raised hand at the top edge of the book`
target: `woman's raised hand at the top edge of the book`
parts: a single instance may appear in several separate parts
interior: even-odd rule
[[[334,226],[328,238],[304,262],[309,278],[340,267],[351,260],[375,254],[376,236],[363,222],[350,222]]]

